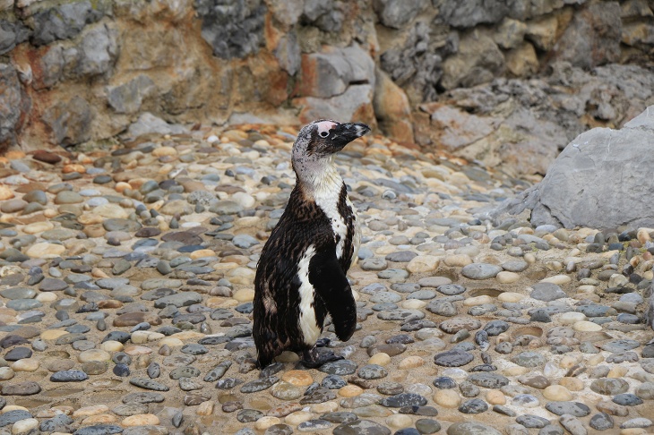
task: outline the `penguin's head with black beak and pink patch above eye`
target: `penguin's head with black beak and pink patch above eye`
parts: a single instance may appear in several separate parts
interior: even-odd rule
[[[319,119],[306,124],[293,144],[293,168],[296,172],[300,169],[310,170],[310,166],[331,162],[335,153],[366,132],[370,132],[370,127],[360,123],[340,124],[329,119]]]

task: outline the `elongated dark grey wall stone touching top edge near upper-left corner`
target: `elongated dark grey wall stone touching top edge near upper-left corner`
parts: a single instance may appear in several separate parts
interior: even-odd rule
[[[89,0],[60,4],[34,14],[34,34],[31,42],[42,46],[59,39],[77,36],[82,29],[99,21],[111,8],[111,2]]]

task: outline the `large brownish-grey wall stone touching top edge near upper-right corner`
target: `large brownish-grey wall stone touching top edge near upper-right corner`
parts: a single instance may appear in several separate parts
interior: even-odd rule
[[[591,68],[620,60],[620,4],[593,3],[576,13],[554,47],[553,59]]]

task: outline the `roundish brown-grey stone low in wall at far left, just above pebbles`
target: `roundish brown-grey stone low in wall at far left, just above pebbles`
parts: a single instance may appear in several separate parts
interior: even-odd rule
[[[52,132],[56,145],[70,146],[90,139],[91,122],[95,114],[88,101],[76,96],[49,107],[43,121]]]

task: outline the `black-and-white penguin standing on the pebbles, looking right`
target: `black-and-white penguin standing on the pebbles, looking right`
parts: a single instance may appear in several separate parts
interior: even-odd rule
[[[306,367],[341,359],[318,352],[327,313],[347,341],[357,306],[346,273],[357,259],[360,231],[334,155],[370,131],[366,124],[317,120],[297,134],[291,151],[296,185],[254,277],[253,337],[261,369],[285,350]]]

